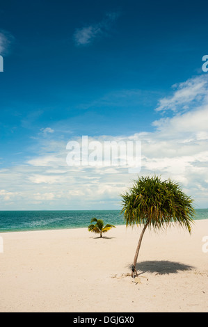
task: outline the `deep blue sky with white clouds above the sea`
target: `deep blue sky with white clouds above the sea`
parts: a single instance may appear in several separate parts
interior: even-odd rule
[[[135,176],[74,170],[67,142],[137,138],[141,174],[208,207],[206,1],[4,1],[0,209],[119,209]]]

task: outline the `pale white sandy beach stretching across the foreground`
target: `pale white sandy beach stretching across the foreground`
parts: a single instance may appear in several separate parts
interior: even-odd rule
[[[1,233],[0,312],[207,312],[208,220],[195,221],[191,236],[146,230],[133,280],[140,232]]]

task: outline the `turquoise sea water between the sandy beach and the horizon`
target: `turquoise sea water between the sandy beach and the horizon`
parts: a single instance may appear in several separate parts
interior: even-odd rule
[[[0,211],[0,232],[87,228],[93,217],[124,224],[120,210]],[[208,219],[208,209],[196,209],[195,219]]]

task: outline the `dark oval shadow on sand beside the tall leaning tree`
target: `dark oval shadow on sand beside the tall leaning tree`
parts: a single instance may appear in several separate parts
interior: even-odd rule
[[[131,266],[129,266],[131,269]],[[156,273],[157,275],[166,275],[169,273],[178,273],[179,271],[191,271],[193,266],[189,264],[181,264],[179,262],[173,262],[168,260],[160,261],[143,261],[136,264],[136,270],[138,275],[142,273]]]

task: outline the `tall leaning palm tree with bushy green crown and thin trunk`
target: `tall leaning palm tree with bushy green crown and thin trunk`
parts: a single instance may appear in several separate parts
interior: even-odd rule
[[[191,233],[194,209],[193,200],[182,192],[181,186],[160,177],[138,177],[129,192],[121,195],[126,225],[143,225],[131,266],[131,277],[138,276],[136,262],[146,228],[157,230],[172,223],[187,228]]]

